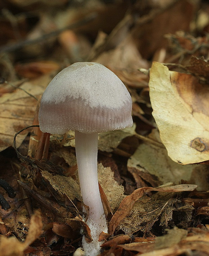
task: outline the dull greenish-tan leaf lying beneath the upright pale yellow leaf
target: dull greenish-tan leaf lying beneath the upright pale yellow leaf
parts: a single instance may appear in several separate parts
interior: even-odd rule
[[[159,133],[156,129],[153,129],[148,137],[160,142]],[[143,184],[142,181],[157,187],[168,182],[179,184],[181,180],[187,180],[191,184],[198,185],[199,191],[209,189],[208,165],[182,166],[168,156],[166,148],[153,144],[140,144],[135,153],[128,159],[127,168],[135,178],[138,187]]]

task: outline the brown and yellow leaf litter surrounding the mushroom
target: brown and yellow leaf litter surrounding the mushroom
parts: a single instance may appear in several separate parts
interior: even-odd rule
[[[208,255],[208,3],[66,2],[3,6],[0,178],[17,195],[0,187],[11,207],[0,209],[1,255],[72,255],[81,232],[91,241],[74,132],[24,130],[16,140],[21,163],[12,148],[14,134],[38,124],[49,81],[76,61],[106,65],[133,100],[134,125],[99,134],[109,227],[101,255]]]

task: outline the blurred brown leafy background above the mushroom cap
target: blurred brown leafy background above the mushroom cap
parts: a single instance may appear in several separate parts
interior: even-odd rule
[[[153,60],[208,58],[208,1],[1,0],[0,9],[0,71],[7,81],[96,61],[144,88],[148,79],[138,69]]]

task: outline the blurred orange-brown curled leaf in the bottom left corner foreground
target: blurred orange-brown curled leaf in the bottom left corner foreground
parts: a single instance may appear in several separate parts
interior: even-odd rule
[[[0,236],[1,256],[21,256],[29,245],[35,241],[41,234],[42,219],[39,211],[35,211],[31,218],[29,231],[24,243],[21,243],[16,237]]]

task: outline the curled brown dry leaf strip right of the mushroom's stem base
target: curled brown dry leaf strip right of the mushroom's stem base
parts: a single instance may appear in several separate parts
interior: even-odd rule
[[[144,187],[140,189],[136,189],[130,195],[126,196],[119,205],[119,208],[113,215],[113,218],[109,224],[108,233],[113,234],[116,227],[119,223],[125,218],[125,216],[130,212],[133,205],[137,200],[139,200],[145,193],[151,191],[159,191],[159,192],[182,192],[182,191],[193,191],[197,186],[193,184],[182,184],[176,185],[166,188],[152,188],[152,187]]]

